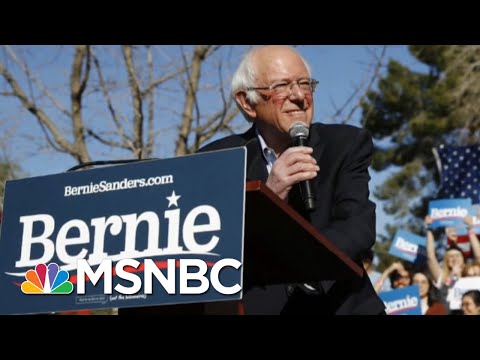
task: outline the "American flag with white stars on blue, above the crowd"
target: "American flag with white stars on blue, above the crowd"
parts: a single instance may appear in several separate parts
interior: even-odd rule
[[[434,148],[441,185],[438,198],[470,198],[480,203],[480,146]]]

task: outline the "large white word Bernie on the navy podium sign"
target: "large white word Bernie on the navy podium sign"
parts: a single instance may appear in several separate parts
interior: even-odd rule
[[[202,224],[196,223],[199,216],[202,216]],[[205,220],[206,217],[206,220]],[[49,214],[36,214],[21,216],[20,223],[23,224],[22,244],[20,259],[15,262],[16,267],[33,267],[39,263],[50,262],[55,253],[58,259],[65,264],[64,270],[74,269],[78,259],[85,259],[88,256],[90,265],[98,265],[105,258],[121,260],[125,258],[146,258],[160,255],[172,254],[208,254],[220,241],[214,234],[221,230],[221,219],[218,211],[210,205],[199,205],[194,207],[185,216],[183,224],[180,221],[180,209],[166,210],[164,212],[166,224],[161,224],[157,214],[153,211],[145,211],[137,214],[112,215],[91,219],[88,223],[81,219],[72,219],[62,224],[58,230],[55,241],[52,234],[55,232],[55,219]],[[141,223],[146,223],[147,248],[143,251],[136,249],[137,228]],[[166,225],[167,239],[160,239],[160,226]],[[34,227],[38,230],[34,236]],[[105,235],[119,235],[125,230],[125,237],[122,240],[124,249],[118,254],[107,254],[104,251]],[[75,236],[71,235],[75,233]],[[212,233],[208,241],[197,241],[197,236],[203,233]],[[93,234],[93,236],[91,235]],[[183,239],[183,244],[180,243]],[[73,252],[72,245],[87,245],[93,239],[93,251],[88,254],[85,247]],[[32,258],[32,247],[42,249],[41,254]],[[14,275],[12,273],[9,273]]]

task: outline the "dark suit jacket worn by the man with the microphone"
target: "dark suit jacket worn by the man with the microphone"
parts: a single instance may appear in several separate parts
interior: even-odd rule
[[[368,166],[372,140],[367,131],[349,125],[312,124],[309,145],[320,166],[314,179],[316,209],[303,211],[298,186],[289,204],[360,266],[360,254],[375,243],[375,204],[368,200]],[[200,149],[212,151],[245,146],[247,180],[266,181],[268,172],[260,142],[252,126],[246,133],[214,141]],[[246,314],[379,314],[384,310],[372,284],[362,278],[322,281],[320,291],[269,286],[246,291]]]

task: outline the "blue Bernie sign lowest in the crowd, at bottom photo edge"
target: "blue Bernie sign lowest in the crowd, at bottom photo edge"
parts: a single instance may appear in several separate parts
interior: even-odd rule
[[[418,285],[378,294],[385,304],[387,315],[422,315]]]

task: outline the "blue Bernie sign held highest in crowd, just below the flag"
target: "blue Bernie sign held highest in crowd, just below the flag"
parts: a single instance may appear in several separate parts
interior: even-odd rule
[[[463,218],[471,211],[470,199],[443,199],[433,200],[428,204],[428,214],[433,222],[430,228],[462,227],[465,226]]]

